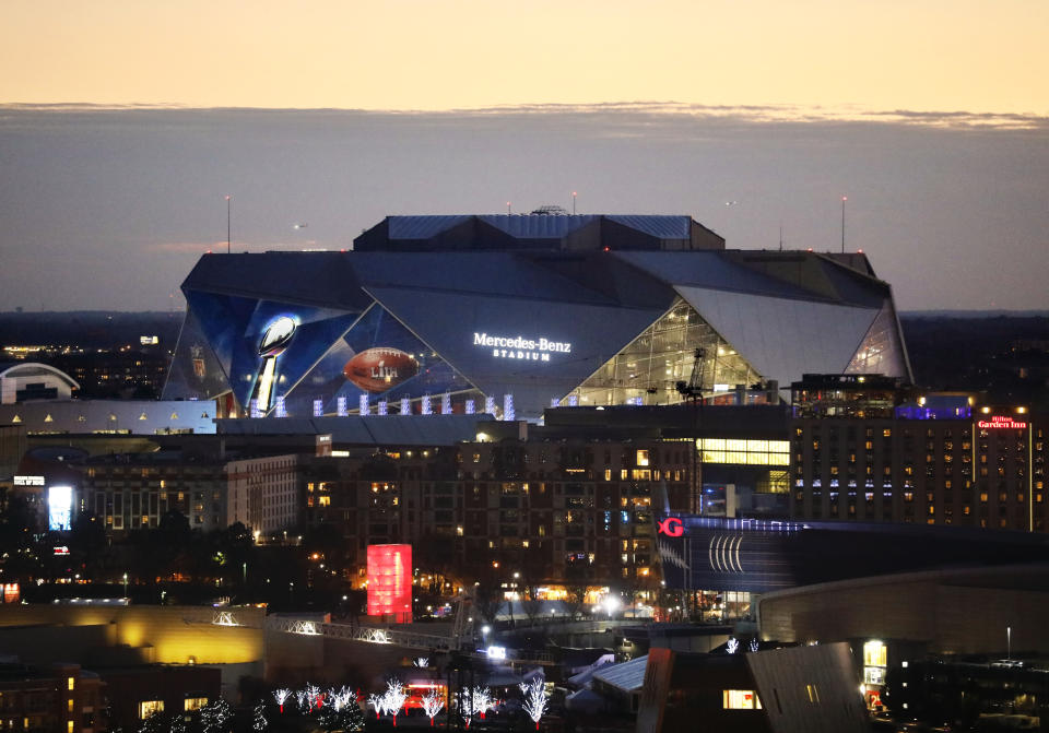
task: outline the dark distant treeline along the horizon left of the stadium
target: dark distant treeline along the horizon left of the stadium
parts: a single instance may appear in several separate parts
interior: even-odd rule
[[[162,348],[173,350],[181,324],[180,312],[0,312],[0,345],[114,348],[155,335]]]

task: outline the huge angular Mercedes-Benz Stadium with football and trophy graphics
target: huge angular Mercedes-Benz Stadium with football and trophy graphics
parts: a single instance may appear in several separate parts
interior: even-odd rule
[[[910,368],[862,253],[733,250],[689,216],[389,216],[350,251],[203,256],[165,399],[220,415],[670,404]]]

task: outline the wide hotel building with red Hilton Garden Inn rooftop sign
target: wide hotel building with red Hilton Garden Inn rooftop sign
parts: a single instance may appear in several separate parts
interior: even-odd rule
[[[1044,532],[1049,416],[875,375],[793,385],[799,519]]]

